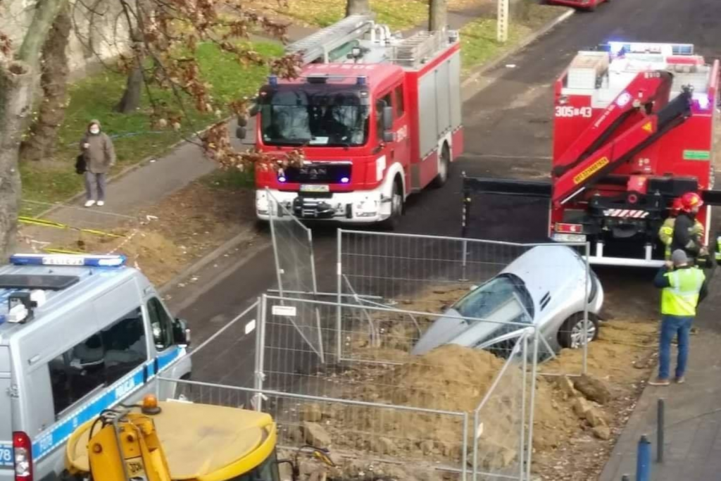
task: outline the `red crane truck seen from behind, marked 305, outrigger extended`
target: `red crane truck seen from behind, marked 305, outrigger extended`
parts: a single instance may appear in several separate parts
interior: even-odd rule
[[[581,51],[554,85],[551,182],[464,179],[472,191],[548,196],[549,236],[590,242],[590,262],[663,263],[657,234],[673,198],[706,204],[708,237],[719,62],[686,44]],[[707,243],[708,239],[704,239]]]

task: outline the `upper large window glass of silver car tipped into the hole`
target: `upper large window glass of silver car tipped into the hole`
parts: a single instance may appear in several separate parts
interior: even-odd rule
[[[500,274],[482,286],[466,294],[453,306],[463,317],[488,319],[505,304],[517,299],[523,309],[521,316],[513,319],[498,319],[505,322],[531,322],[534,317],[534,306],[531,294],[528,294],[525,284],[517,275]],[[513,311],[508,311],[513,312]]]

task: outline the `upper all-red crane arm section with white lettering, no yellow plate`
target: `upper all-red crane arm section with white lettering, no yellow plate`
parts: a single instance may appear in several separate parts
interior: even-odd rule
[[[658,111],[668,102],[673,75],[667,71],[641,72],[614,102],[581,133],[576,141],[559,157],[554,175],[561,176],[572,167],[588,159],[611,134],[631,115],[645,107],[645,113]]]

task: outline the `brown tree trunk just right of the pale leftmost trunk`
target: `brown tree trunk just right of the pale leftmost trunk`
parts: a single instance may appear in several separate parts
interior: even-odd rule
[[[65,102],[68,85],[67,47],[73,26],[66,6],[53,22],[48,40],[43,46],[43,102],[37,120],[30,127],[30,136],[20,146],[22,160],[51,159],[57,146],[58,131],[65,120]]]

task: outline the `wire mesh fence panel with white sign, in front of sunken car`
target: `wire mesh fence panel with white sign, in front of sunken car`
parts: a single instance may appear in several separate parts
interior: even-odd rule
[[[512,356],[518,337],[528,329],[528,324],[443,317],[382,305],[273,296],[266,296],[265,303],[266,315],[260,326],[264,390],[420,410],[474,412],[492,389],[506,358]],[[323,320],[325,363],[319,363],[289,319],[293,316],[289,309],[300,312],[301,304],[312,304]],[[276,307],[280,309],[274,311]],[[433,335],[423,337],[429,326],[444,322],[472,322],[485,334],[466,347],[435,343]],[[469,348],[474,346],[478,349]],[[505,381],[518,379],[509,376]],[[520,392],[523,386],[508,389]],[[342,415],[331,413],[328,423],[339,432],[347,424],[353,431],[358,425],[371,423],[366,418],[366,411],[346,410]],[[434,416],[405,414],[376,421],[379,433],[386,433],[386,439],[378,442],[387,449],[403,456],[414,456],[406,451],[417,449],[439,463],[457,465],[462,453],[449,441],[458,439],[456,421],[441,423]],[[420,433],[425,438],[418,438]],[[420,442],[398,444],[394,438]]]

